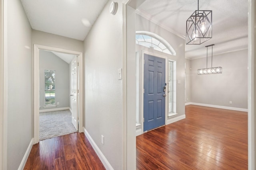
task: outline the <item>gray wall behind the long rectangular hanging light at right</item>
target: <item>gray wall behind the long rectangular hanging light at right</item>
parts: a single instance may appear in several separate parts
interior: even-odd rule
[[[191,60],[191,102],[247,109],[247,56],[247,50],[213,56],[212,66],[222,66],[222,74],[197,75],[206,58]]]

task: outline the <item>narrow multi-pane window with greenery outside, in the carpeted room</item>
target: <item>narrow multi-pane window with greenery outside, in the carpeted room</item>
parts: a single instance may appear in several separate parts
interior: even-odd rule
[[[44,105],[55,105],[55,70],[44,70]]]

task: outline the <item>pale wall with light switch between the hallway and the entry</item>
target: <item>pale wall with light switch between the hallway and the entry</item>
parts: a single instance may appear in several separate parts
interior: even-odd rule
[[[122,80],[118,80],[118,68],[122,68],[122,0],[116,2],[116,15],[109,13],[108,2],[84,40],[84,127],[111,166],[120,170]]]

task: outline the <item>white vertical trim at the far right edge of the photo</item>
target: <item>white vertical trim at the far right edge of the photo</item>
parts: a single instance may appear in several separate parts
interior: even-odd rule
[[[248,170],[256,169],[256,3],[248,0]]]

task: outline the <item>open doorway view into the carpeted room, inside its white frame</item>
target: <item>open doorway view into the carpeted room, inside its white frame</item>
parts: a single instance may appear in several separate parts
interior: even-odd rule
[[[78,106],[73,104],[77,103],[77,58],[76,55],[39,50],[40,141],[78,130]]]

